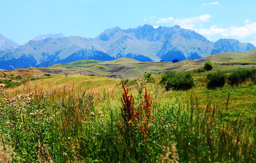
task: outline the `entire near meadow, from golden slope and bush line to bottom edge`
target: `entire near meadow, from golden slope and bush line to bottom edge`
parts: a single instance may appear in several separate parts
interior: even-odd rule
[[[25,95],[0,86],[0,162],[253,163],[255,69],[216,72],[221,85],[209,87],[214,73],[150,74],[125,85],[105,77],[50,77],[23,85]],[[178,76],[184,79],[169,79]],[[87,81],[80,85],[85,90],[72,89],[79,87],[74,78]],[[50,79],[56,89],[42,91]],[[93,79],[103,84],[88,88]]]

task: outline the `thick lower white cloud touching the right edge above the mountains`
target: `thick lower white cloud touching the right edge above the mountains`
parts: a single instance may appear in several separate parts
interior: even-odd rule
[[[195,29],[195,30],[196,32],[204,36],[221,34],[224,37],[246,38],[248,36],[256,34],[256,22],[245,24],[244,26],[240,26],[240,27],[232,26],[229,28],[218,28],[218,26],[213,25],[209,29]]]

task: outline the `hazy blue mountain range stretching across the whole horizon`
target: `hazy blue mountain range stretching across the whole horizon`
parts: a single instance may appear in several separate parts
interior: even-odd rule
[[[1,36],[1,35],[0,35]],[[11,45],[11,44],[10,44]],[[2,42],[0,41],[0,47]],[[132,58],[138,61],[196,59],[223,52],[245,52],[256,48],[235,39],[207,40],[201,34],[180,26],[106,29],[95,38],[63,34],[39,35],[18,47],[4,45],[0,51],[0,69],[39,67],[81,59],[109,61]]]

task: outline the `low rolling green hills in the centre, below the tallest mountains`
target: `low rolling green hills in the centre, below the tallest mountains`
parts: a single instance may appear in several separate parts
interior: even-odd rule
[[[82,60],[67,64],[56,64],[48,67],[48,72],[63,70],[79,74],[95,74],[108,77],[135,77],[145,72],[159,74],[163,69],[173,66],[171,62],[139,62],[130,58],[119,58],[114,61]]]

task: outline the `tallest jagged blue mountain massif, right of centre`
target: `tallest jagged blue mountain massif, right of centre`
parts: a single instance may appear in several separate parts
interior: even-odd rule
[[[106,29],[93,41],[104,48],[106,53],[115,58],[127,57],[127,54],[142,55],[152,60],[171,61],[178,55],[186,59],[195,53],[201,58],[211,54],[214,43],[201,34],[189,29],[174,27],[159,27],[151,25],[139,26],[134,29]],[[134,58],[136,59],[136,58]]]

